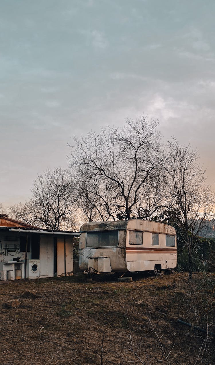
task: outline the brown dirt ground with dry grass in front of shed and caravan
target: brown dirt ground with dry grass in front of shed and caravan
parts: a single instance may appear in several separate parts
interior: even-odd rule
[[[205,298],[198,275],[192,284],[181,273],[98,279],[1,282],[0,364],[215,363],[206,334],[177,322],[207,329],[214,294]],[[36,298],[24,297],[26,289]],[[5,307],[13,299],[20,304]]]

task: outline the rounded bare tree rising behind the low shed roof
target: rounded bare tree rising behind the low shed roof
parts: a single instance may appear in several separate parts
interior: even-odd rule
[[[37,176],[32,197],[9,207],[9,214],[23,222],[50,230],[72,230],[76,225],[76,194],[71,174],[61,167]]]

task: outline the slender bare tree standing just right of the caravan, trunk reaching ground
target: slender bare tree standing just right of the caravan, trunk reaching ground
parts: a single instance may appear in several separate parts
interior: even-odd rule
[[[198,153],[190,144],[181,146],[176,138],[168,141],[166,158],[167,203],[180,215],[178,224],[188,251],[188,271],[192,276],[198,234],[214,211],[214,192],[206,184],[205,172],[198,164]]]

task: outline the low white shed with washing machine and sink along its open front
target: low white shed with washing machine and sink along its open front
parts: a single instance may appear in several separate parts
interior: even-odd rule
[[[0,214],[0,280],[72,275],[73,237]]]

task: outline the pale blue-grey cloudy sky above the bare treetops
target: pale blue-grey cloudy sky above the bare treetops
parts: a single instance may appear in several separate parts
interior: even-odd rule
[[[214,0],[1,0],[0,203],[67,142],[129,117],[199,151],[215,187]]]

